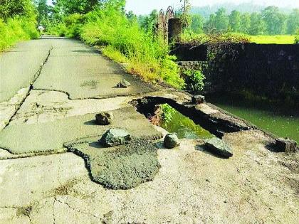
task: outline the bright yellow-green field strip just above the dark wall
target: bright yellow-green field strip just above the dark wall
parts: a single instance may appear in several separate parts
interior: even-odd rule
[[[295,36],[276,35],[276,36],[250,36],[252,43],[276,43],[276,44],[293,44]]]

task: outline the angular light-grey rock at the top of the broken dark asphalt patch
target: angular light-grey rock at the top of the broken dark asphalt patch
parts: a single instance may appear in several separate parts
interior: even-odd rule
[[[132,140],[131,134],[123,129],[109,129],[99,140],[103,146],[112,147],[128,144]]]

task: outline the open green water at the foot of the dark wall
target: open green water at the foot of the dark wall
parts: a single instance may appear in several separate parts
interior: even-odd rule
[[[299,111],[292,107],[229,95],[210,96],[207,101],[278,137],[289,137],[299,142]]]

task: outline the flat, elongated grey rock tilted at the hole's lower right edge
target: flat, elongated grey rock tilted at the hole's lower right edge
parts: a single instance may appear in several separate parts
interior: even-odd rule
[[[214,154],[217,154],[224,158],[229,158],[233,156],[231,147],[221,139],[212,138],[207,139],[204,142],[206,144],[206,148]]]

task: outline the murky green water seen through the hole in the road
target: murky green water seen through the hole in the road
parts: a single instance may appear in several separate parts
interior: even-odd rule
[[[174,109],[172,110],[171,119],[168,122],[162,119],[159,126],[169,133],[177,133],[179,139],[209,139],[214,137],[209,131],[195,124],[192,119]]]

